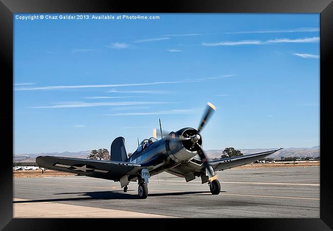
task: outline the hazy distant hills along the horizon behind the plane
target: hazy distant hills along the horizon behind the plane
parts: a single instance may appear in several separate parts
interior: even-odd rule
[[[237,149],[237,148],[236,148]],[[243,153],[252,154],[252,153],[260,153],[269,150],[275,150],[279,148],[272,149],[239,149]],[[205,150],[207,156],[211,159],[219,158],[222,155],[222,151],[224,149],[217,150]],[[282,156],[284,157],[317,157],[319,154],[320,146],[314,146],[312,148],[286,148],[282,149],[269,157],[274,159],[280,159]],[[15,154],[13,156],[14,162],[35,162],[37,156],[61,156],[61,157],[73,157],[73,158],[84,158],[87,159],[91,151],[81,151],[81,152],[63,152],[63,153],[39,153],[39,154]]]

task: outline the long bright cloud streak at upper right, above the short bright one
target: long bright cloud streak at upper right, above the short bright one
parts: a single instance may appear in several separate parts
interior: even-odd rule
[[[241,40],[241,41],[220,41],[218,43],[202,43],[202,46],[237,46],[237,45],[263,45],[263,44],[278,44],[278,43],[315,43],[319,41],[319,37],[311,37],[311,38],[275,38],[267,41],[260,40]]]

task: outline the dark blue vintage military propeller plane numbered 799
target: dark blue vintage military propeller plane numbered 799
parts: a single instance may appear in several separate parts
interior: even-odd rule
[[[153,137],[138,143],[137,150],[130,157],[125,149],[124,138],[117,137],[111,144],[110,160],[38,156],[36,162],[47,169],[119,181],[123,192],[127,192],[129,182],[137,181],[140,199],[148,196],[149,178],[164,171],[184,177],[186,182],[201,177],[201,183],[208,182],[211,193],[217,195],[221,186],[215,172],[251,163],[282,148],[217,160],[207,159],[201,148],[200,132],[215,109],[212,103],[207,103],[198,129],[183,128],[165,134],[159,120],[161,139],[157,140],[155,129]]]

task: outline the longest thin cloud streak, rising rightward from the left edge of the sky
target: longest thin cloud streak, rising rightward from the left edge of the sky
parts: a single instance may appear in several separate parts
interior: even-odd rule
[[[105,84],[105,85],[71,85],[71,86],[46,86],[34,88],[15,88],[15,91],[34,91],[34,90],[58,90],[58,89],[80,89],[80,88],[113,88],[113,87],[133,87],[133,86],[149,86],[149,85],[164,85],[174,83],[202,82],[212,79],[220,79],[231,77],[234,75],[221,75],[218,77],[200,78],[200,79],[185,79],[179,81],[164,81],[164,82],[146,82],[146,83],[120,83],[120,84]],[[119,92],[119,91],[118,91]],[[126,92],[122,92],[126,93]],[[142,92],[143,93],[143,92]]]

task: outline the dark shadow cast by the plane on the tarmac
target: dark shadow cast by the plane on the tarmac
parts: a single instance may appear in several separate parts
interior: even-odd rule
[[[136,191],[136,190],[128,190],[128,191]],[[221,191],[221,192],[223,192],[223,191]],[[194,195],[194,194],[206,195],[207,193],[209,193],[209,192],[207,192],[207,191],[196,191],[196,192],[153,193],[153,194],[149,194],[149,197]],[[85,197],[38,199],[38,200],[28,200],[28,201],[13,201],[13,203],[85,201],[85,200],[113,200],[113,199],[118,199],[118,200],[119,199],[139,199],[138,195],[122,193],[122,190],[101,191],[101,192],[80,192],[80,193],[57,193],[57,194],[53,194],[53,195],[68,195],[68,194],[76,194],[78,196],[85,196]]]

